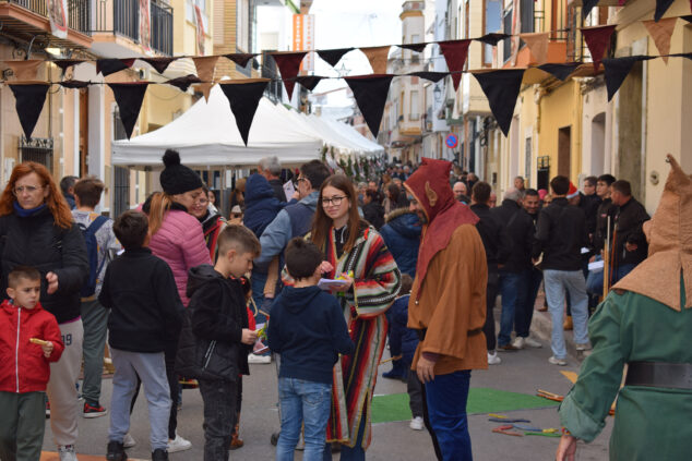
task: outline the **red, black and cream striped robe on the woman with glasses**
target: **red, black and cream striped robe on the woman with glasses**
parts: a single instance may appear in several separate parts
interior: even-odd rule
[[[354,289],[339,298],[350,339],[356,344],[351,355],[334,366],[332,411],[327,441],[355,447],[361,418],[366,418],[362,448],[370,445],[370,414],[378,365],[386,339],[384,312],[392,305],[401,286],[401,274],[384,241],[372,227],[363,228],[350,252],[336,257],[334,228],[323,248],[335,275],[354,272]]]

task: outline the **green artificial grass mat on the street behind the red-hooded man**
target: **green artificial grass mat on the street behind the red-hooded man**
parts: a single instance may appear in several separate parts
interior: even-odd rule
[[[559,403],[527,393],[509,392],[489,388],[472,388],[468,392],[466,412],[502,413],[513,410],[532,410],[557,407]],[[392,421],[410,420],[408,393],[390,393],[375,396],[372,401],[372,422],[390,423]]]

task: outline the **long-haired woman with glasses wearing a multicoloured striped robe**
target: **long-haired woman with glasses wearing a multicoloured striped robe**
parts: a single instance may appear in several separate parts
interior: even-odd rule
[[[311,240],[324,252],[324,277],[343,278],[336,294],[356,344],[334,367],[327,442],[339,441],[342,460],[365,460],[371,438],[372,393],[384,350],[384,312],[401,287],[401,274],[377,230],[358,216],[356,190],[342,174],[320,189]],[[332,459],[324,450],[324,459]]]

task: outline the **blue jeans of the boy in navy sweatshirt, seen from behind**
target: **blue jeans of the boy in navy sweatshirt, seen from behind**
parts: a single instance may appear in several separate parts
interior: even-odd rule
[[[294,450],[305,423],[305,461],[322,461],[330,418],[332,386],[296,378],[278,378],[282,433],[276,444],[276,461],[294,459]]]

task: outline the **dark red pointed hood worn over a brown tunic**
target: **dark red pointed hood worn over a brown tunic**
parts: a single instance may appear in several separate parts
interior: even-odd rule
[[[428,218],[416,265],[417,287],[425,280],[428,265],[438,252],[446,247],[454,231],[460,226],[478,222],[470,208],[454,199],[450,185],[451,169],[450,161],[423,157],[420,167],[404,183]]]

